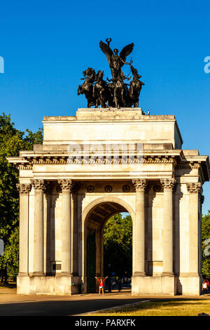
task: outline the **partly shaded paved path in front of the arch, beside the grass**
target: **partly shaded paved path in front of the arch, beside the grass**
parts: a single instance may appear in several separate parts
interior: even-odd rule
[[[15,289],[0,289],[0,316],[67,316],[111,308],[146,299],[184,298],[183,296],[131,296],[130,291],[74,296],[17,295]],[[185,298],[210,298],[209,296]]]

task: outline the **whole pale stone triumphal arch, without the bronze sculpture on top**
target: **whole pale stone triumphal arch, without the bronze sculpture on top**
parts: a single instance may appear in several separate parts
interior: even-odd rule
[[[209,157],[182,150],[175,117],[89,108],[43,129],[43,145],[8,159],[20,170],[18,293],[90,291],[105,275],[104,223],[129,212],[132,294],[200,294]]]

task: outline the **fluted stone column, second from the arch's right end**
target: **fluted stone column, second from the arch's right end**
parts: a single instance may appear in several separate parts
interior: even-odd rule
[[[160,180],[164,190],[163,202],[163,246],[162,275],[172,276],[173,272],[173,188],[175,179]]]

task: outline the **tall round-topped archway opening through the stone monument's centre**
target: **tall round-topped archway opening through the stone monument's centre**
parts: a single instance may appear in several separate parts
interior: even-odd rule
[[[92,207],[86,222],[87,292],[95,292],[95,277],[106,277],[106,287],[117,289],[118,279],[127,288],[132,277],[132,218],[117,202],[102,202]]]

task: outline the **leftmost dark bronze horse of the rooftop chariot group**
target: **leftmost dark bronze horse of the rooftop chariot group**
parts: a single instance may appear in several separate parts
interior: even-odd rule
[[[85,78],[85,81],[83,84],[78,86],[77,94],[85,94],[85,98],[87,98],[87,107],[91,107],[94,105],[97,107],[97,98],[94,94],[94,81],[95,81],[95,71],[88,67],[87,70],[83,71],[83,75]]]

